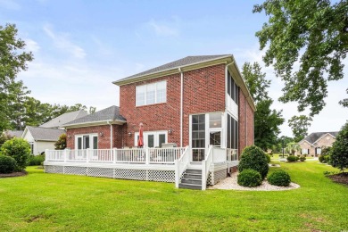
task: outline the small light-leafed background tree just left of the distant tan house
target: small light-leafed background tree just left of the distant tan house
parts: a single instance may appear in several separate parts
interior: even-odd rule
[[[311,126],[311,118],[305,115],[293,116],[287,121],[293,131],[294,142],[300,142],[308,134],[308,128]]]

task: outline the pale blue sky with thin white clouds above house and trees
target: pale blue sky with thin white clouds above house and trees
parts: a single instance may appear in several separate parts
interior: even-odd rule
[[[267,21],[253,14],[261,1],[51,1],[0,0],[0,21],[15,23],[35,57],[19,79],[43,103],[119,105],[121,79],[187,55],[234,54],[238,66],[261,62],[255,32]],[[348,64],[347,60],[344,61]],[[348,66],[348,65],[346,65]],[[271,67],[269,95],[286,121],[296,104],[280,104],[282,83]],[[347,73],[345,67],[344,73]],[[338,105],[347,79],[330,83],[327,106],[309,132],[333,131],[347,120]],[[282,135],[292,136],[285,123]]]

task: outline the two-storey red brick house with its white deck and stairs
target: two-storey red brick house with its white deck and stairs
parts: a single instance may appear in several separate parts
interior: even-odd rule
[[[205,189],[205,181],[213,185],[236,170],[244,147],[253,145],[256,109],[231,54],[187,56],[113,84],[120,108],[64,124],[72,150],[46,155],[46,172]],[[145,149],[137,148],[140,123]],[[189,171],[200,177],[188,178],[194,184],[185,183]]]

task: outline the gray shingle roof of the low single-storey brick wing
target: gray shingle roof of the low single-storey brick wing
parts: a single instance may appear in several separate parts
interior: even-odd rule
[[[85,123],[94,122],[94,121],[107,121],[107,120],[126,121],[126,119],[120,115],[120,107],[116,105],[112,105],[102,111],[91,113],[85,117],[79,118],[78,120],[72,120],[64,124],[63,126],[71,126],[76,124],[85,124]]]

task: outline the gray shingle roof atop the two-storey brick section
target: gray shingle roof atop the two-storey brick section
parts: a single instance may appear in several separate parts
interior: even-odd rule
[[[163,64],[161,66],[158,66],[156,68],[153,68],[151,70],[145,70],[143,72],[134,74],[134,75],[129,76],[127,78],[116,80],[113,83],[123,81],[123,80],[128,80],[128,79],[135,79],[137,77],[145,76],[145,75],[152,74],[152,73],[159,72],[159,71],[163,71],[163,70],[172,70],[172,69],[175,69],[175,68],[178,68],[181,66],[190,65],[190,64],[195,64],[195,63],[200,63],[200,62],[208,62],[211,60],[217,60],[217,59],[220,59],[223,57],[228,57],[228,56],[232,56],[232,54],[186,56],[185,58],[182,58],[178,61],[169,62],[169,63]]]

